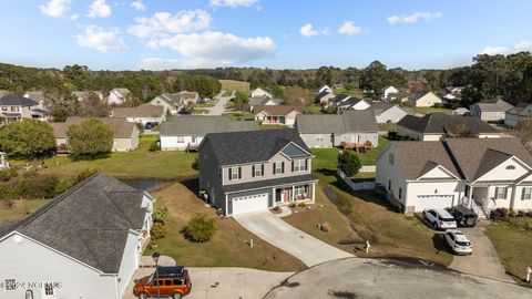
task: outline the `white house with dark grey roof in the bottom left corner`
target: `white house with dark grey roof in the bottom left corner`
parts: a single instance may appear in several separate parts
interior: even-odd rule
[[[1,298],[121,299],[150,239],[153,199],[96,174],[0,227]]]

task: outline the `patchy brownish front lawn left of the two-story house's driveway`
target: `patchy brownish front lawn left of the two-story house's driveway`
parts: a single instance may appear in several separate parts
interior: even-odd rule
[[[215,210],[205,207],[205,203],[191,189],[197,189],[197,179],[176,183],[153,193],[156,198],[155,206],[166,206],[171,215],[168,234],[157,241],[158,252],[173,257],[177,265],[188,267],[246,267],[273,271],[297,271],[306,268],[295,257],[244,229],[235,219],[216,216]],[[217,231],[204,244],[191,243],[180,233],[196,213],[206,214],[215,220]],[[252,238],[253,248],[247,244]],[[150,249],[144,252],[149,254]]]

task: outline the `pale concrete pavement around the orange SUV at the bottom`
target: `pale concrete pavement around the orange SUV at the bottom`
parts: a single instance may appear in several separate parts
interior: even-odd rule
[[[294,272],[269,272],[246,268],[187,268],[192,291],[186,299],[259,299]],[[141,268],[134,279],[153,274],[154,268]],[[123,299],[134,299],[127,287]]]

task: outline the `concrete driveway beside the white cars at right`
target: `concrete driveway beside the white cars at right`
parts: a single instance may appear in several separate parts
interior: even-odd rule
[[[449,268],[464,274],[513,281],[510,276],[504,274],[504,267],[502,267],[490,239],[482,231],[482,226],[473,228],[462,227],[460,230],[468,236],[473,245],[473,254],[471,256],[454,256]]]

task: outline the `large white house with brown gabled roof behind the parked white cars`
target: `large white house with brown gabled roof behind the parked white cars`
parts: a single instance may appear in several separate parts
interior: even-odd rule
[[[532,157],[516,138],[390,142],[377,157],[376,183],[406,213],[466,205],[489,217],[498,207],[532,209]]]

